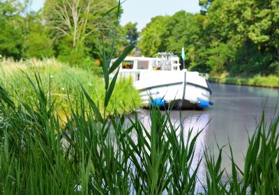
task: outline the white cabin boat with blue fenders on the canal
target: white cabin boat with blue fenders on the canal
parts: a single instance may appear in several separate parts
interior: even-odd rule
[[[179,57],[161,53],[161,58],[127,56],[121,63],[120,77],[133,77],[144,105],[176,109],[213,105],[211,86],[199,72],[180,70]],[[112,59],[112,63],[116,59]]]

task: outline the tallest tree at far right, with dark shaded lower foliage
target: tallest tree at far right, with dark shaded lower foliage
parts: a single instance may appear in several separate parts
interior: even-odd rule
[[[214,42],[231,47],[236,52],[232,70],[269,72],[270,64],[279,59],[279,1],[214,0],[206,4],[209,49],[218,47]]]

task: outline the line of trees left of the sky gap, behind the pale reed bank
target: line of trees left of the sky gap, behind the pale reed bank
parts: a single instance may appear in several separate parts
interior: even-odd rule
[[[0,55],[15,60],[54,56],[92,67],[100,63],[100,32],[107,40],[110,29],[116,30],[115,56],[137,40],[136,24],[119,25],[117,10],[103,17],[117,5],[116,0],[45,0],[34,12],[30,0],[0,0]]]

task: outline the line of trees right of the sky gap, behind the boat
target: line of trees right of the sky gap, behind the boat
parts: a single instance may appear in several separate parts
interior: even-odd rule
[[[154,17],[142,30],[142,54],[186,49],[190,70],[214,75],[279,75],[278,0],[199,0],[201,13]]]

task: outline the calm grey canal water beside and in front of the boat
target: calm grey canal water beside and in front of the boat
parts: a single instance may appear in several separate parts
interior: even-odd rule
[[[226,145],[230,142],[236,164],[243,167],[243,155],[248,147],[248,136],[255,132],[263,109],[268,120],[274,116],[279,101],[279,89],[225,84],[211,84],[211,87],[212,100],[215,100],[216,104],[204,111],[182,111],[182,117],[185,118],[184,130],[188,131],[191,127],[196,131],[204,128],[197,141],[196,159],[204,146],[215,147],[214,156],[218,157],[216,141],[219,146],[225,146],[225,153],[229,154],[229,147]],[[149,111],[142,110],[140,115],[143,117],[142,121],[148,125]],[[180,111],[171,111],[174,123],[179,123],[179,115]],[[230,159],[225,153],[223,153],[222,166],[227,168],[230,174]],[[205,174],[204,166],[201,166],[199,179],[204,180]]]

